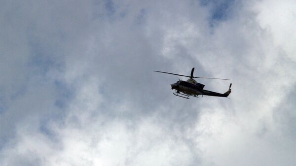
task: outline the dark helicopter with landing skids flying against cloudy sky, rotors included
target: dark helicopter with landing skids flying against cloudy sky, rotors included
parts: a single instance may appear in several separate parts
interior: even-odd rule
[[[175,73],[170,73],[170,72],[163,72],[163,71],[155,71],[155,72],[162,72],[162,73],[166,73],[166,74],[173,74],[173,75],[179,75],[179,76],[183,76],[183,77],[189,77],[189,79],[187,79],[186,81],[182,81],[182,80],[179,79],[179,81],[177,81],[176,83],[171,84],[172,90],[175,89],[175,92],[173,92],[173,94],[175,96],[178,96],[178,97],[181,97],[181,98],[189,99],[189,96],[198,98],[198,95],[227,98],[228,95],[231,93],[231,89],[230,89],[231,85],[232,85],[231,83],[229,85],[228,91],[223,93],[223,94],[203,89],[205,85],[203,85],[201,83],[198,83],[193,78],[221,79],[221,80],[229,80],[229,79],[208,78],[208,77],[194,77],[193,76],[194,67],[191,69],[190,76],[175,74]]]

